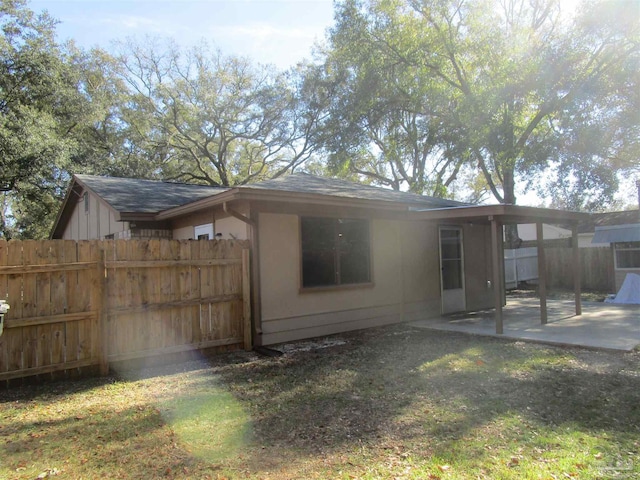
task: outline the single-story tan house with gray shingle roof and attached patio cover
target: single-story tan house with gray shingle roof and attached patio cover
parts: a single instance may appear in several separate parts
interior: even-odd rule
[[[582,218],[308,174],[230,188],[76,175],[51,237],[247,239],[253,342],[269,345],[489,307],[502,333],[502,225],[577,235]]]

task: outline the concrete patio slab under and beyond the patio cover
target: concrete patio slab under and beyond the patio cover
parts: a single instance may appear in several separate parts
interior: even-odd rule
[[[548,323],[540,324],[538,299],[513,298],[504,307],[504,334],[496,335],[493,310],[418,320],[418,328],[473,333],[611,350],[633,350],[640,345],[640,305],[582,304],[575,315],[573,301],[547,300]]]

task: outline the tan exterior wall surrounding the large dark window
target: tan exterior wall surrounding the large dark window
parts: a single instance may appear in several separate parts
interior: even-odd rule
[[[262,343],[273,344],[433,314],[439,305],[437,229],[373,219],[372,285],[300,290],[296,215],[260,215]],[[436,243],[437,245],[437,243]],[[435,314],[439,309],[435,311]]]

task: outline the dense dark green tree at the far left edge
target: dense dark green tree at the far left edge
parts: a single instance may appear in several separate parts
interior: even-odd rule
[[[55,41],[56,21],[22,0],[0,2],[0,236],[49,233],[71,173],[125,160],[121,88],[104,52]],[[122,168],[120,168],[122,170]]]

